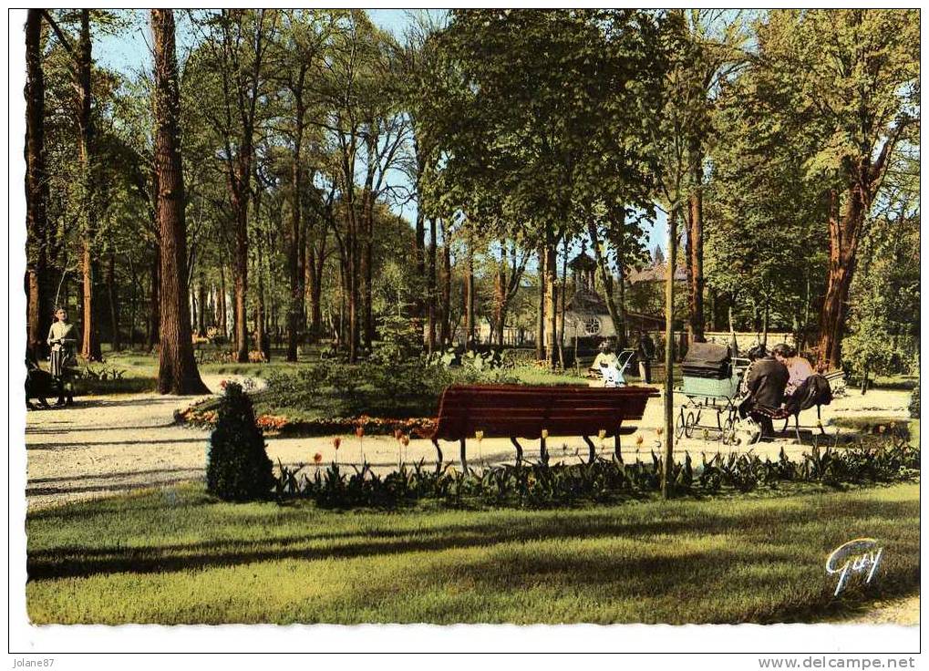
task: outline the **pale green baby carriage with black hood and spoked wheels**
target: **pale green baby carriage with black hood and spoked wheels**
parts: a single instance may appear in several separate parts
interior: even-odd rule
[[[736,442],[740,387],[748,365],[747,359],[732,358],[726,345],[692,343],[681,366],[684,382],[674,388],[687,399],[674,423],[674,436],[691,438],[701,430],[718,434],[723,444]]]

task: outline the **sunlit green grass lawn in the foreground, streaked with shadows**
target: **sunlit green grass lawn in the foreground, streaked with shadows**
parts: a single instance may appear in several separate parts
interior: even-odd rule
[[[33,512],[35,624],[814,622],[919,589],[919,484],[560,510],[217,503],[196,485]],[[840,599],[832,549],[881,540]]]

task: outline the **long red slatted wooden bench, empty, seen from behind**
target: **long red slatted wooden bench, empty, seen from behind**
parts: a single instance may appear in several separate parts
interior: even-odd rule
[[[547,463],[543,431],[550,436],[582,436],[591,461],[596,451],[590,437],[603,431],[615,439],[619,457],[620,435],[635,431],[635,427],[623,427],[623,422],[642,419],[648,399],[658,395],[658,389],[651,387],[452,385],[438,401],[438,419],[430,438],[439,467],[442,450],[438,441],[459,441],[465,471],[465,441],[475,438],[478,431],[484,438],[509,438],[517,450],[517,463],[523,454],[520,438],[540,441],[542,461]]]

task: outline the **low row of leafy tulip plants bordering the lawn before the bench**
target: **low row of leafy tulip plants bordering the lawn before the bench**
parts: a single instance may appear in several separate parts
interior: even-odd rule
[[[919,475],[920,451],[911,447],[899,428],[883,426],[873,436],[841,448],[814,444],[801,462],[781,450],[779,459],[756,454],[713,454],[694,467],[690,454],[674,463],[670,481],[675,495],[707,495],[758,489],[776,489],[779,483],[821,482],[833,487],[844,483],[890,482]],[[662,462],[658,454],[625,464],[596,459],[590,464],[517,463],[488,468],[456,470],[450,464],[426,468],[420,461],[378,475],[370,465],[353,467],[349,475],[337,464],[282,467],[276,491],[281,498],[307,497],[322,507],[399,507],[421,499],[437,499],[461,507],[481,503],[503,507],[558,507],[640,498],[661,491]],[[302,471],[302,472],[301,472]]]

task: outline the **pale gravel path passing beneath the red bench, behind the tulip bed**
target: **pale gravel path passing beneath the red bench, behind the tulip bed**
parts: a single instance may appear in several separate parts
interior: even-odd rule
[[[214,391],[229,375],[204,375],[204,382]],[[203,478],[209,434],[198,428],[177,426],[176,410],[188,407],[200,397],[163,397],[156,394],[121,394],[77,399],[72,408],[30,412],[27,415],[26,449],[28,454],[27,500],[30,508],[65,504],[76,500],[112,495],[136,489],[164,486],[184,480]],[[838,415],[881,414],[906,416],[909,393],[872,390],[867,396],[857,394],[833,401],[823,408],[823,421]],[[806,413],[801,420],[812,425],[816,415]],[[636,436],[623,438],[623,455],[643,459],[657,446],[656,429],[663,422],[661,401],[648,403]],[[834,430],[834,429],[832,429]],[[642,441],[636,446],[636,440]],[[527,458],[537,458],[538,441],[522,441]],[[586,458],[582,440],[550,437],[549,452],[555,461]],[[458,459],[457,443],[442,443],[445,461]],[[757,454],[776,456],[781,447],[797,455],[806,449],[789,439],[757,445]],[[395,467],[399,444],[386,436],[369,436],[359,441],[344,437],[335,453],[331,438],[268,437],[268,455],[277,464],[312,463],[320,453],[323,463],[338,458],[339,463],[360,464],[364,458],[380,471]],[[697,456],[701,451],[727,451],[718,441],[685,439],[675,446]],[[602,452],[612,452],[606,441]],[[512,445],[505,439],[485,439],[480,444],[468,441],[468,459],[472,465],[512,461]],[[406,450],[408,462],[425,459],[435,464],[436,451],[429,441],[411,441]],[[699,456],[697,456],[699,459]]]

